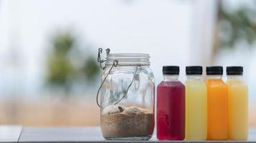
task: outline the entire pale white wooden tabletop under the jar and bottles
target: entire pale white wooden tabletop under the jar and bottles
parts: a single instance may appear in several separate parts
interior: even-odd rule
[[[149,141],[108,141],[99,127],[21,127],[0,126],[0,142],[159,142],[155,134]],[[191,141],[165,141],[191,142]],[[204,141],[231,142],[231,141]],[[236,141],[244,142],[244,141]],[[249,130],[247,142],[256,142],[256,128]]]

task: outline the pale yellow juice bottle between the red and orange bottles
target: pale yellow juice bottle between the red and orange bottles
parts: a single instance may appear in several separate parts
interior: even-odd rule
[[[186,66],[186,140],[207,138],[207,89],[202,66]]]

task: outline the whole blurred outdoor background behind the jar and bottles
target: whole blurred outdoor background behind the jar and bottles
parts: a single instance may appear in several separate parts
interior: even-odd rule
[[[150,54],[156,84],[163,65],[183,82],[186,65],[244,66],[256,126],[254,0],[0,0],[0,124],[99,125],[99,47]]]

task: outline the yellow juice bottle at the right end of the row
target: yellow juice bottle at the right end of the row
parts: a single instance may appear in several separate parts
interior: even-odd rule
[[[229,139],[246,140],[248,137],[248,92],[242,81],[242,66],[227,66],[229,89]]]

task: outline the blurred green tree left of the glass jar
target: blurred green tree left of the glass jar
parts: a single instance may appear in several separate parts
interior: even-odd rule
[[[96,57],[82,52],[76,36],[70,31],[58,31],[52,36],[50,53],[47,58],[46,83],[52,88],[61,88],[69,95],[74,84],[95,82],[99,75]],[[83,47],[86,51],[91,46]]]

